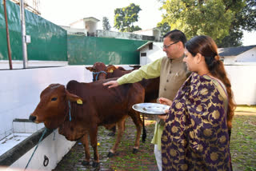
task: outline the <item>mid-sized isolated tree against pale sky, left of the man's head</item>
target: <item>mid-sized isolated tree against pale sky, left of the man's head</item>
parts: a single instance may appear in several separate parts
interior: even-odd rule
[[[142,9],[134,3],[131,3],[130,6],[115,9],[114,28],[122,32],[142,30],[139,26],[134,26],[134,22],[138,22],[138,12],[140,10]]]

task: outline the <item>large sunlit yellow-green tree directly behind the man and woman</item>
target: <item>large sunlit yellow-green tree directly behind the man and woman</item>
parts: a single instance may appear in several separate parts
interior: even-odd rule
[[[206,34],[217,43],[229,35],[235,14],[245,6],[243,0],[166,0],[163,21],[182,30],[188,39]]]

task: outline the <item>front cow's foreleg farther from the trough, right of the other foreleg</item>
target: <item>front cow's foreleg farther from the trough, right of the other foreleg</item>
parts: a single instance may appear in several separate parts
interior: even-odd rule
[[[97,135],[98,135],[98,126],[94,126],[90,129],[90,145],[94,149],[94,161],[93,161],[93,167],[99,166],[99,156],[98,156],[98,148],[97,148]]]

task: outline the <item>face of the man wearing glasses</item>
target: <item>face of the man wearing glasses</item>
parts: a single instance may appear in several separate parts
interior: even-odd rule
[[[169,37],[163,39],[162,50],[166,52],[166,56],[170,59],[180,58],[182,42],[174,42]],[[184,51],[184,50],[183,50]]]

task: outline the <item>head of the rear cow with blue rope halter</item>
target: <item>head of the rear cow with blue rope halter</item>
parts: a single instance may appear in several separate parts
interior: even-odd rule
[[[106,65],[102,62],[95,62],[94,66],[86,67],[87,70],[93,73],[93,82],[106,79]]]

